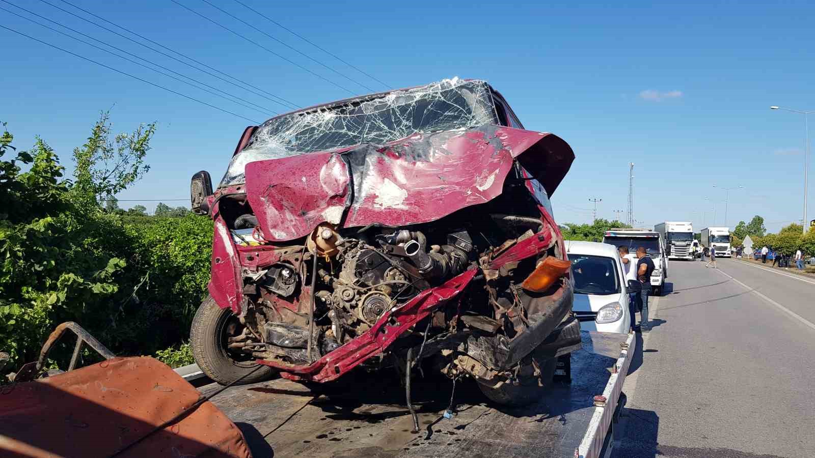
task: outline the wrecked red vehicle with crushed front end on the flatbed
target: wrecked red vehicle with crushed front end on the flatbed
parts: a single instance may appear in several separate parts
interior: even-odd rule
[[[499,403],[579,348],[549,197],[574,160],[486,81],[439,81],[248,127],[215,192],[210,297],[192,324],[222,384],[422,364]],[[405,370],[407,369],[407,370]]]

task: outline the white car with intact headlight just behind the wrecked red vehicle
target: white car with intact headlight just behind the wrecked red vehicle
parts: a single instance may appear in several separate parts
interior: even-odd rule
[[[612,244],[566,240],[575,279],[575,311],[581,331],[623,332],[631,328],[628,284]]]

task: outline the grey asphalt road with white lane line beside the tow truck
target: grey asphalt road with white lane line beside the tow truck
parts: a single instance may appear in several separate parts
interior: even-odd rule
[[[815,456],[815,281],[718,264],[670,262],[614,456]]]

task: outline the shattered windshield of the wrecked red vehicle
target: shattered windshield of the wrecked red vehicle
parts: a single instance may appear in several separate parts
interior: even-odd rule
[[[459,78],[293,112],[272,118],[255,131],[246,148],[232,157],[221,186],[244,183],[245,165],[253,161],[362,143],[378,145],[417,132],[470,129],[495,123],[487,82]]]

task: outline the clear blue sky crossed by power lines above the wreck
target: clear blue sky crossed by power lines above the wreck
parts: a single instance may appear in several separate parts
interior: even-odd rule
[[[47,1],[104,24],[61,0]],[[68,1],[299,106],[350,95],[174,2]],[[285,111],[45,2],[8,2],[253,103]],[[33,17],[8,2],[0,2],[0,7]],[[370,92],[201,0],[178,2],[355,94]],[[802,216],[804,119],[770,111],[769,106],[815,109],[815,3],[505,2],[496,8],[494,2],[241,0],[385,81],[386,87],[233,0],[211,2],[374,90],[453,76],[490,81],[527,129],[558,134],[575,150],[571,173],[553,196],[558,222],[590,222],[589,198],[602,199],[597,214],[603,218],[626,209],[631,161],[636,163],[635,217],[644,226],[686,219],[694,221],[697,230],[725,225],[725,192],[713,184],[745,186],[730,193],[730,227],[760,214],[770,230],[778,231]],[[0,19],[11,29],[243,117],[268,117],[7,11],[0,10]],[[86,139],[100,110],[112,108],[114,130],[158,121],[148,156],[152,170],[122,192],[121,200],[186,205],[171,199],[188,196],[189,178],[197,170],[209,170],[217,181],[250,124],[5,29],[0,29],[0,42],[0,120],[8,122],[18,148],[29,148],[39,134],[70,169],[72,149]],[[811,118],[815,125],[815,116]],[[815,218],[813,197],[810,192],[809,219]]]

